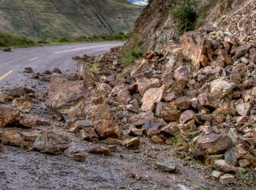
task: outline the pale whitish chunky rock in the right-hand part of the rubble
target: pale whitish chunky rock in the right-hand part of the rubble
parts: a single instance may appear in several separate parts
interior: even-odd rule
[[[231,94],[235,87],[236,85],[234,83],[228,83],[225,80],[217,79],[211,83],[211,94],[223,98],[228,94]]]

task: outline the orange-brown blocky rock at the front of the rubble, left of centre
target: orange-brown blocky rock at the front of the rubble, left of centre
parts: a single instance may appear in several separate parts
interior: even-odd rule
[[[94,122],[94,129],[101,139],[108,137],[121,137],[121,130],[117,123],[111,120],[99,120]]]

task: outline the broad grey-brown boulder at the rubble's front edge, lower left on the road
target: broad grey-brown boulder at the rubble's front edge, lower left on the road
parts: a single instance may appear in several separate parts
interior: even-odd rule
[[[41,153],[58,155],[69,148],[70,139],[62,134],[44,130],[39,133],[32,149]]]

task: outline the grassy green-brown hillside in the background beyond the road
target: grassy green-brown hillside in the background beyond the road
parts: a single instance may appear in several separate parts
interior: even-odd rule
[[[1,0],[0,29],[29,37],[78,37],[132,30],[141,7],[126,0]]]

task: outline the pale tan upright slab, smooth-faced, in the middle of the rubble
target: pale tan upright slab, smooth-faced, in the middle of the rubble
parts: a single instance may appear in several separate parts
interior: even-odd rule
[[[157,102],[161,101],[164,91],[165,91],[165,86],[162,86],[161,88],[148,89],[143,95],[143,99],[141,99],[141,102],[143,102],[141,106],[141,110],[143,112],[153,111]]]

